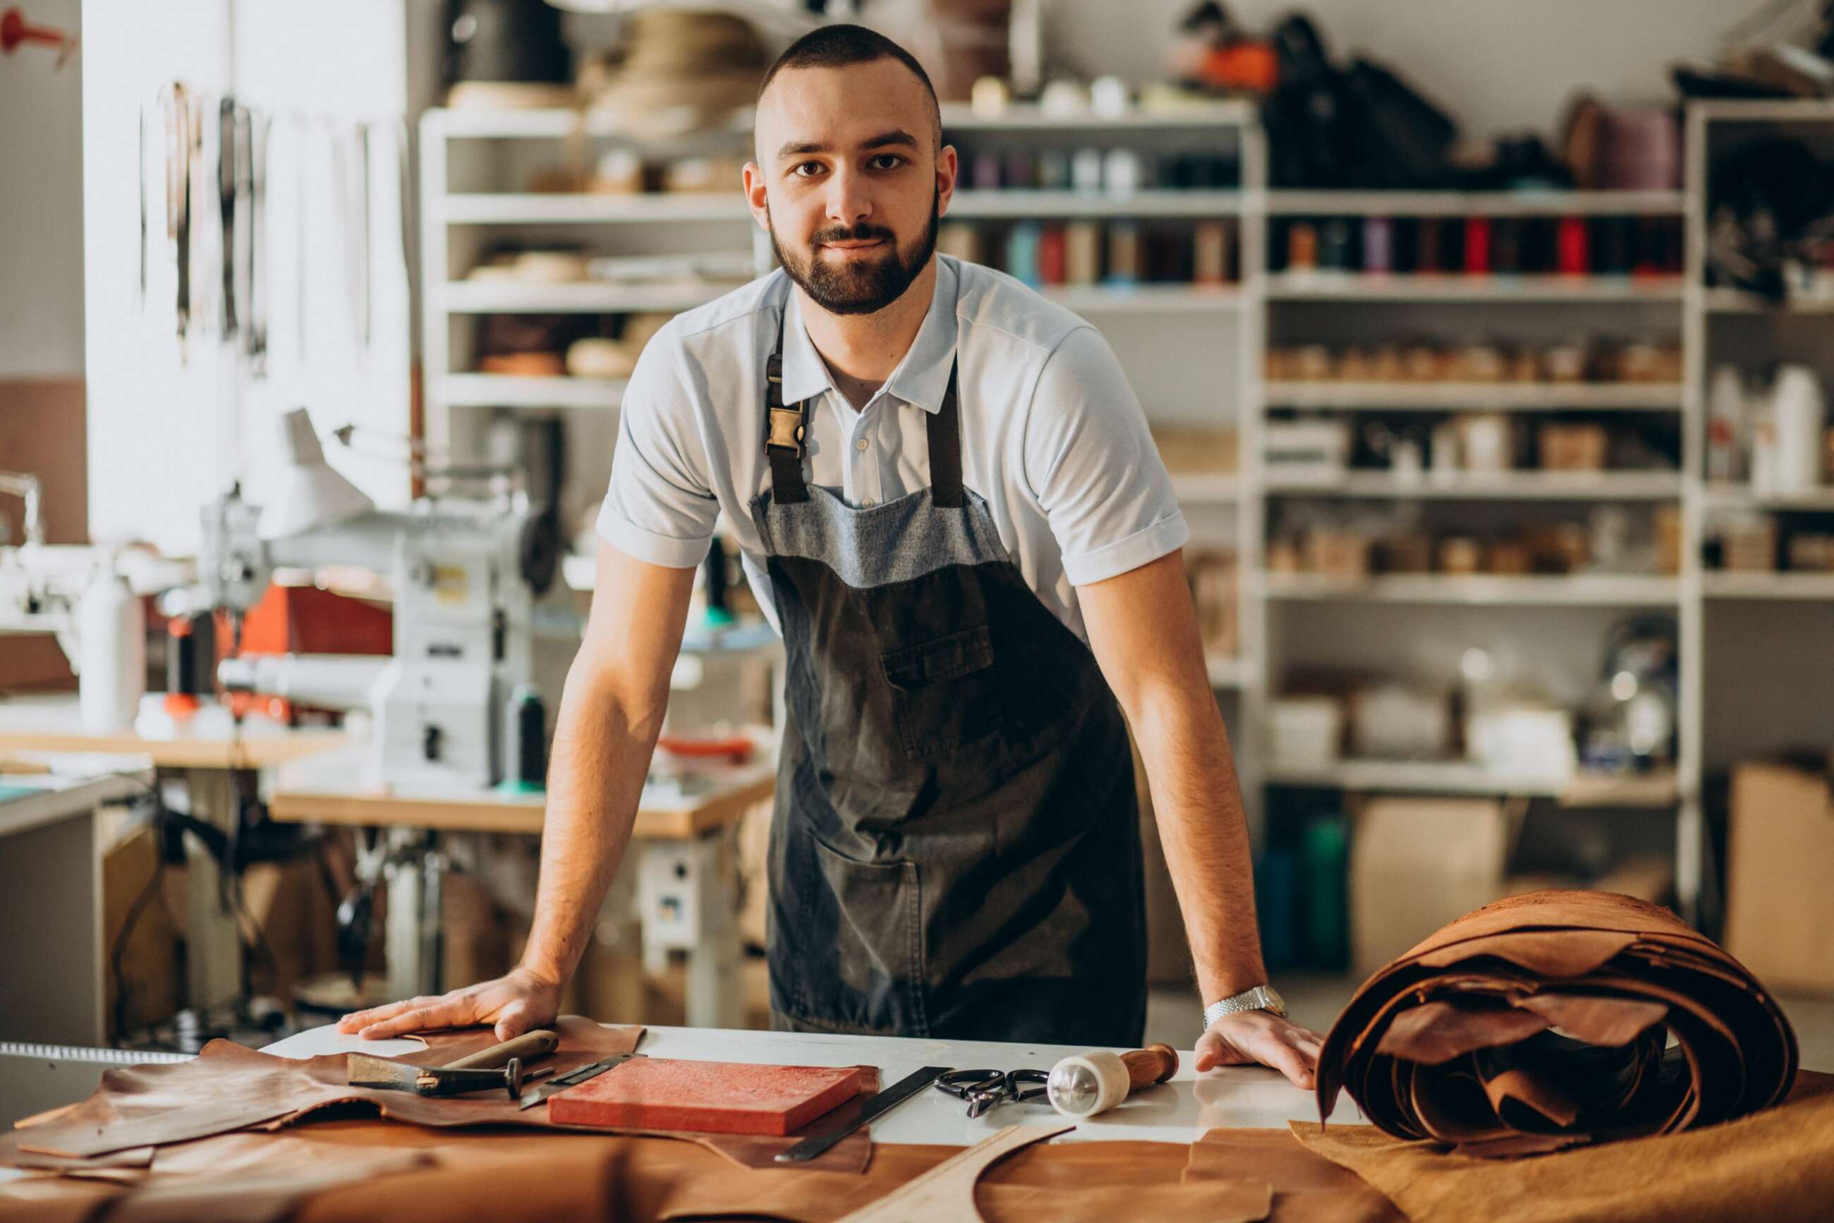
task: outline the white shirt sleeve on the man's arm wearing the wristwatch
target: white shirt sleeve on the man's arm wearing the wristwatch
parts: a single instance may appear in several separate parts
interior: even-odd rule
[[[1066,336],[1038,374],[1025,477],[1071,585],[1115,578],[1190,541],[1146,414],[1091,326]]]

